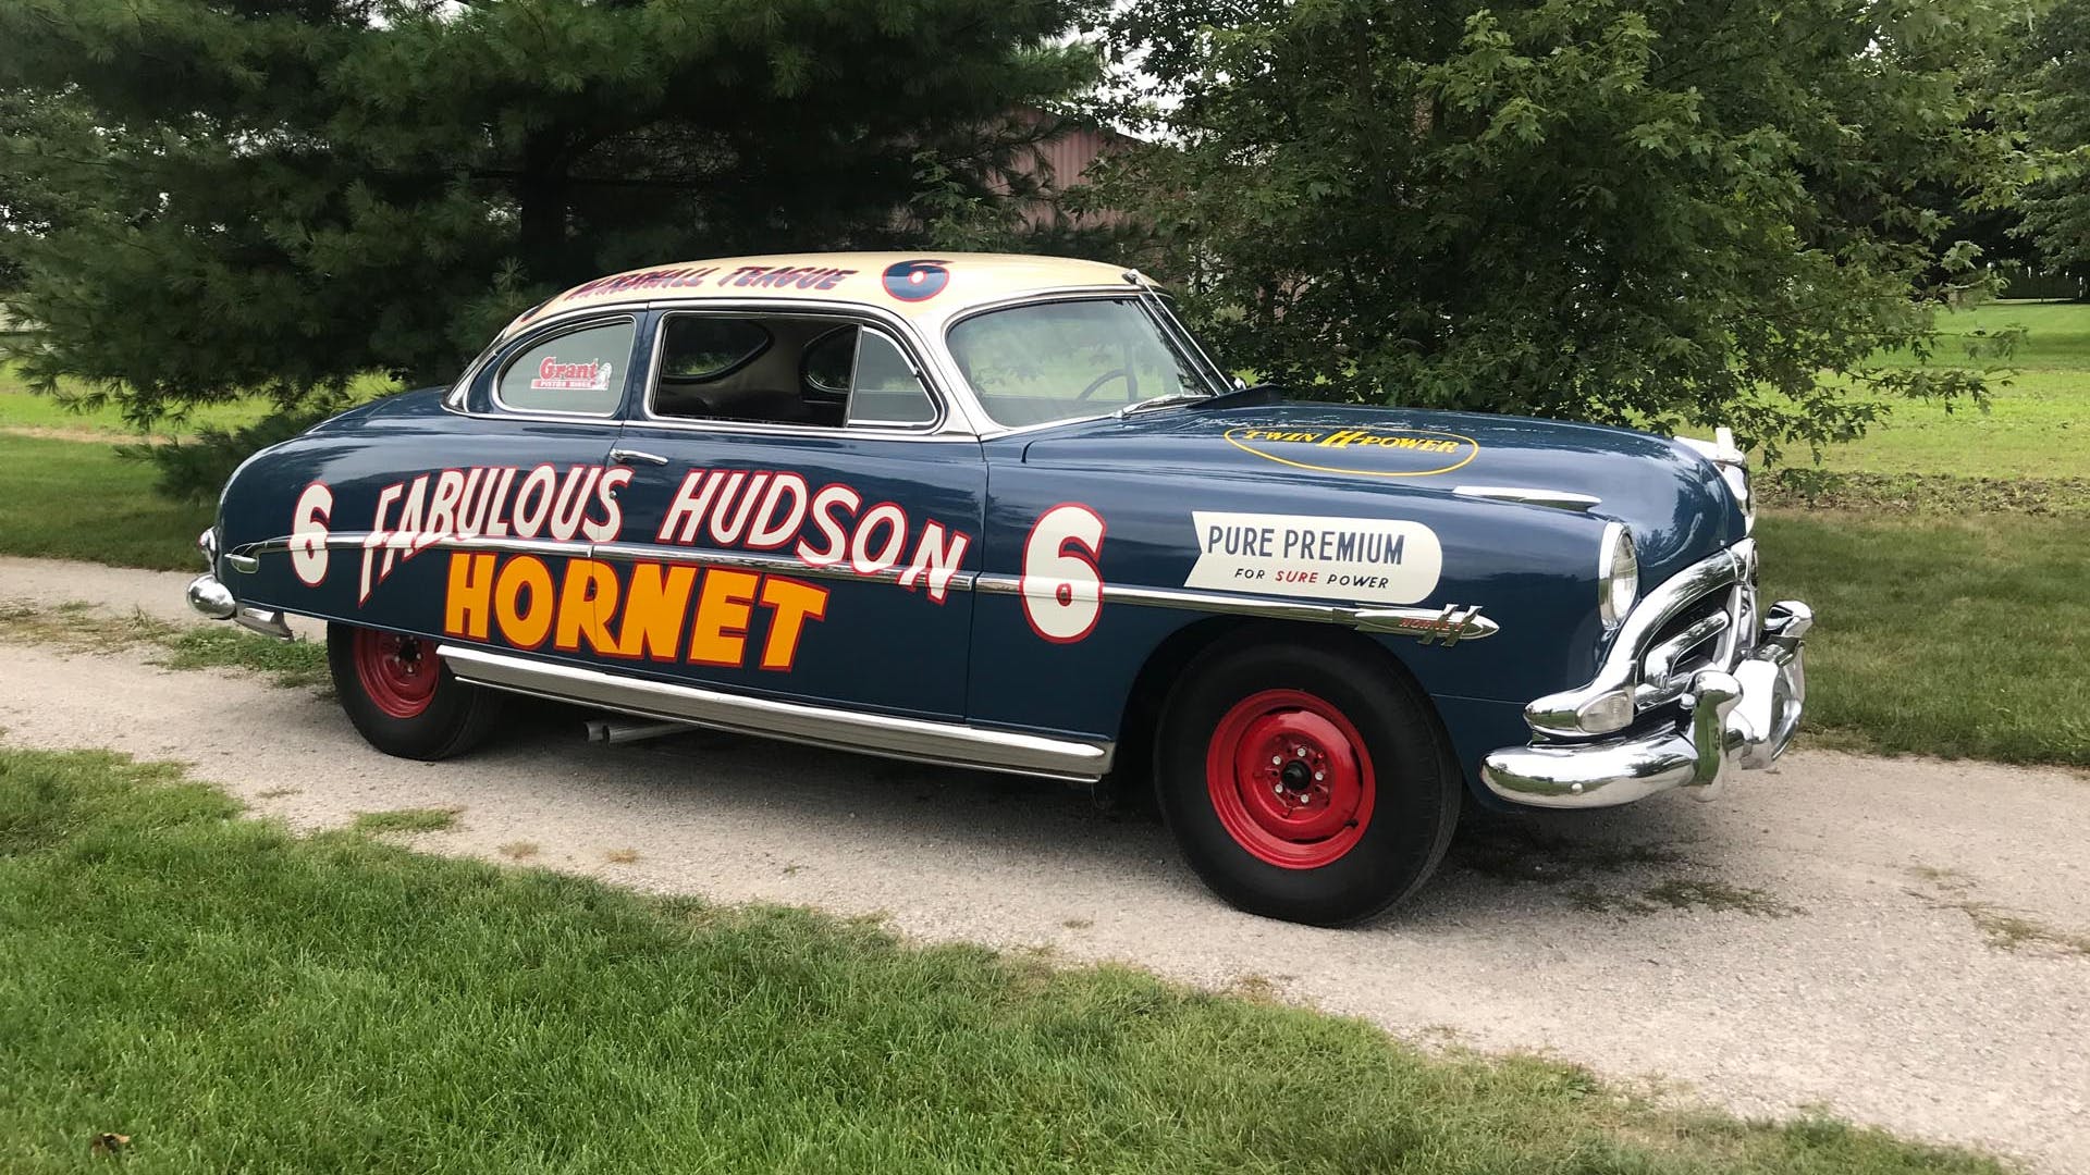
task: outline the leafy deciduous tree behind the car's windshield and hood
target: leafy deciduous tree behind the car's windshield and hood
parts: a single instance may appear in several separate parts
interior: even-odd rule
[[[1133,0],[1162,142],[1099,180],[1231,362],[1333,399],[1733,424],[1776,458],[1983,293],[1925,207],[2008,199],[1981,0]]]

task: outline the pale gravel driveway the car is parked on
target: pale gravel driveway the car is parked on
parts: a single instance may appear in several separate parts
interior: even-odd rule
[[[171,619],[184,581],[0,558],[0,600]],[[713,734],[606,748],[577,721],[535,725],[408,763],[307,692],[0,644],[6,742],[184,759],[299,826],[456,805],[460,828],[420,847],[500,859],[527,843],[533,863],[642,889],[1127,960],[1745,1114],[1827,1106],[2090,1171],[2077,771],[1799,751],[1720,803],[1469,824],[1419,901],[1313,930],[1227,909],[1158,824],[1058,784]]]

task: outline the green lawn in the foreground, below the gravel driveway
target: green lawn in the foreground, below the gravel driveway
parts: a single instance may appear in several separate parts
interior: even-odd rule
[[[0,1154],[79,1171],[1977,1173],[1122,968],[236,820],[0,748]]]

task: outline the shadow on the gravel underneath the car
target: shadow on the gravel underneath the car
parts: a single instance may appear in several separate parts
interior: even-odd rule
[[[853,836],[947,859],[993,853],[1026,872],[1076,870],[1129,886],[1216,901],[1179,861],[1145,803],[1097,803],[1087,788],[690,732],[619,746],[589,744],[579,711],[541,705],[489,757],[571,757],[608,767],[652,805],[702,801],[727,817],[842,826]],[[585,782],[600,790],[602,782]],[[700,790],[698,790],[700,788]],[[1427,930],[1490,914],[1618,922],[1668,912],[1781,918],[1776,897],[1722,878],[1737,815],[1722,805],[1655,797],[1588,813],[1492,813],[1467,805],[1436,878],[1371,928]]]

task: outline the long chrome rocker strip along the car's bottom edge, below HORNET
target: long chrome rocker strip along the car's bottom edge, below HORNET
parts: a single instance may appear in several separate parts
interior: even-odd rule
[[[1116,744],[1112,742],[1045,738],[1041,734],[982,730],[955,721],[874,715],[725,694],[698,686],[619,677],[575,665],[525,661],[520,656],[456,644],[437,646],[437,652],[458,677],[495,690],[585,702],[663,721],[688,721],[915,763],[1095,782],[1110,774],[1116,753]]]

